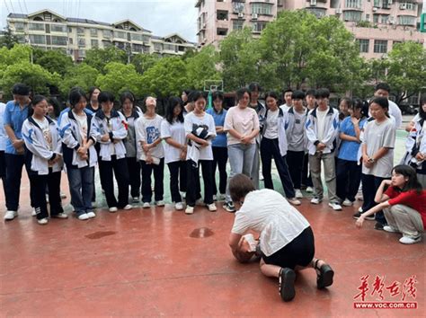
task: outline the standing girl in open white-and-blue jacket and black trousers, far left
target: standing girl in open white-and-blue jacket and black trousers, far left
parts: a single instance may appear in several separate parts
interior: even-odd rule
[[[29,117],[23,122],[22,137],[25,141],[25,164],[30,176],[31,193],[37,222],[48,224],[46,186],[49,189],[50,216],[67,218],[60,199],[60,177],[62,172],[61,139],[58,125],[46,116],[48,102],[36,95],[31,102]]]

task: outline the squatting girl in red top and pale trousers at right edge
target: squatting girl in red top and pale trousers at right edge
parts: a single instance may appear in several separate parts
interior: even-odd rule
[[[388,187],[385,190],[385,187]],[[426,228],[426,190],[417,180],[415,170],[405,164],[396,165],[392,179],[384,180],[378,187],[376,207],[361,214],[356,225],[361,227],[364,219],[383,209],[386,232],[401,233],[400,243],[413,244],[422,241]]]

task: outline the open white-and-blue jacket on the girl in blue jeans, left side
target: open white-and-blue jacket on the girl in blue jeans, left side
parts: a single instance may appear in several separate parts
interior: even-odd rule
[[[93,140],[93,145],[96,143],[96,138],[93,135],[91,128],[93,116],[85,113],[87,116],[87,139]],[[98,156],[94,146],[90,146],[88,150],[88,159],[84,160],[77,155],[77,150],[83,145],[83,137],[80,133],[80,125],[75,119],[74,112],[68,111],[60,122],[60,137],[62,138],[62,152],[64,153],[64,162],[67,167],[73,169],[84,168],[85,166],[93,167],[98,162]]]

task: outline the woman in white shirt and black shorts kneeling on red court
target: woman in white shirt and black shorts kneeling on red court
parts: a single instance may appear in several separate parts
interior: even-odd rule
[[[309,223],[287,199],[274,190],[254,190],[253,182],[244,174],[231,179],[229,191],[233,201],[241,205],[229,236],[238,261],[252,258],[254,252],[243,235],[254,231],[260,234],[262,274],[279,278],[282,300],[290,301],[295,296],[295,270],[316,269],[318,288],[333,284],[333,269],[314,257],[314,234]]]

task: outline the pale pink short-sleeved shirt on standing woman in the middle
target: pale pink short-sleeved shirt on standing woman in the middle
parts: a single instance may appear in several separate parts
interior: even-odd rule
[[[259,118],[257,117],[256,110],[250,107],[240,109],[238,106],[231,107],[227,110],[224,130],[235,129],[243,136],[250,135],[253,130],[259,129]],[[251,144],[256,142],[256,138],[251,140]],[[240,140],[227,134],[227,145],[240,144]]]

